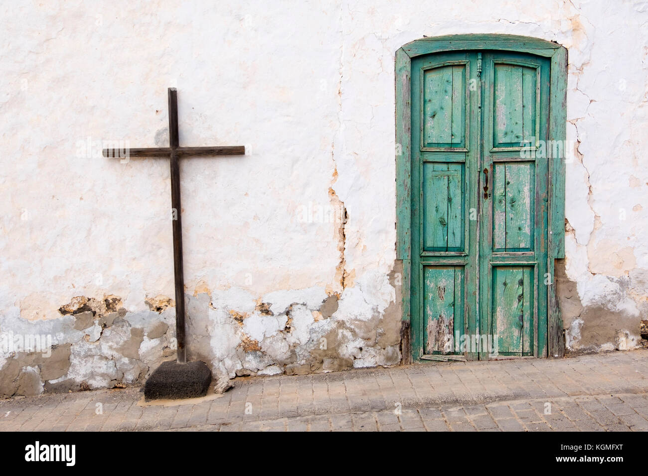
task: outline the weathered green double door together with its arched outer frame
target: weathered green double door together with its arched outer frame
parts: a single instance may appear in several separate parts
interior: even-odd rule
[[[522,36],[424,38],[396,52],[397,258],[415,361],[488,357],[456,347],[448,328],[513,329],[500,332],[500,355],[564,355],[553,279],[564,258],[564,149],[539,160],[520,151],[535,153],[533,137],[564,144],[566,69],[564,47]],[[524,106],[505,89],[526,91]],[[481,116],[496,110],[505,117]]]

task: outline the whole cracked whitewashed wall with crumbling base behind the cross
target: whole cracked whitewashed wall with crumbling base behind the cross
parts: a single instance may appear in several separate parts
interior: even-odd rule
[[[194,357],[232,376],[397,363],[394,54],[454,33],[568,48],[568,345],[636,345],[646,2],[16,1],[1,16],[0,331],[49,333],[61,361],[5,353],[9,394],[132,383],[172,354],[168,161],[99,152],[167,144],[170,86],[181,144],[248,148],[181,163]]]

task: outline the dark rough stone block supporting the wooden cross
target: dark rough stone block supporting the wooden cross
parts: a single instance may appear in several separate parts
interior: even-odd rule
[[[156,368],[146,380],[144,398],[194,398],[207,394],[211,370],[204,362],[178,363],[168,361]]]

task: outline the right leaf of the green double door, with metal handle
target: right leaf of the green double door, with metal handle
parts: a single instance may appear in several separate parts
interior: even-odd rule
[[[548,138],[550,62],[518,52],[483,58],[481,168],[492,194],[480,213],[481,332],[500,356],[546,357],[547,299],[534,277],[546,273],[548,161],[533,152]]]

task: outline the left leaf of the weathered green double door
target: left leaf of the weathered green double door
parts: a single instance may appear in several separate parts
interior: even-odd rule
[[[411,64],[411,316],[415,359],[476,358],[457,338],[476,332],[476,54],[453,52]],[[472,65],[472,66],[471,66]],[[467,166],[470,164],[470,166]],[[469,250],[470,248],[470,250]],[[406,292],[406,291],[405,291]],[[414,319],[415,317],[415,319]],[[441,356],[445,356],[441,358]]]

